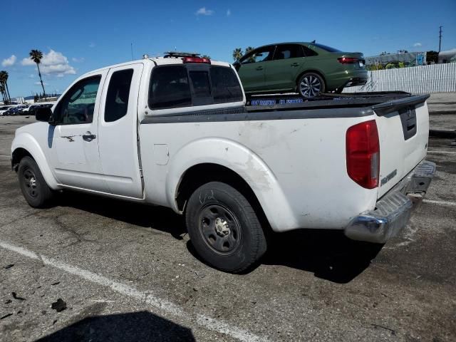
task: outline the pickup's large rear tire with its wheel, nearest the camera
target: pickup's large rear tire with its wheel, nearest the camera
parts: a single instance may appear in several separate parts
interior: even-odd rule
[[[266,238],[252,205],[222,182],[209,182],[193,192],[185,221],[197,254],[216,269],[245,271],[266,252]]]

